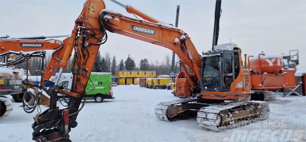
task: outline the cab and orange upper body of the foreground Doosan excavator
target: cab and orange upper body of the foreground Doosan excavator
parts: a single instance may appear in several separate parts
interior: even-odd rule
[[[198,95],[203,99],[224,100],[252,94],[250,73],[242,69],[240,56],[241,49],[234,43],[216,45],[213,50],[203,52]]]

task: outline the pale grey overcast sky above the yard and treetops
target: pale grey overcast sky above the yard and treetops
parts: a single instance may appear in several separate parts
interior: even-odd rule
[[[167,23],[175,24],[176,5],[180,5],[178,27],[188,33],[197,51],[210,50],[215,0],[119,0]],[[15,1],[0,0],[0,36],[51,36],[70,34],[84,0]],[[133,17],[119,5],[105,0],[106,9]],[[305,68],[306,1],[305,0],[223,0],[218,44],[237,43],[242,54],[261,51],[289,54],[299,50],[300,65]],[[144,58],[162,61],[172,51],[130,37],[108,32],[100,46],[102,54],[115,54],[124,60],[128,54],[136,64]]]

